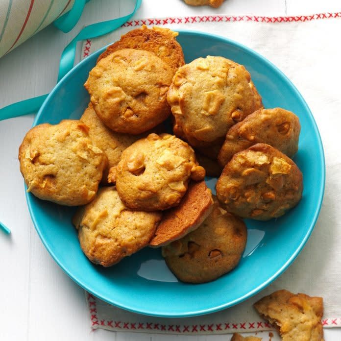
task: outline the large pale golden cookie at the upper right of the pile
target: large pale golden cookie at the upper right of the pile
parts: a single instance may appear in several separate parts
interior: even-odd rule
[[[175,135],[195,147],[222,143],[233,124],[263,107],[244,66],[213,56],[179,68],[167,100]]]

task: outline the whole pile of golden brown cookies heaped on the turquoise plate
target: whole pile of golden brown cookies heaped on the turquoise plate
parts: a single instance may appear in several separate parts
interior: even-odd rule
[[[19,160],[27,191],[80,206],[73,224],[93,263],[162,247],[179,280],[203,283],[238,265],[242,218],[277,218],[299,201],[290,157],[300,125],[263,108],[244,66],[217,56],[185,64],[176,36],[143,26],[109,46],[84,84],[80,120],[33,127]],[[219,177],[217,197],[205,174]]]

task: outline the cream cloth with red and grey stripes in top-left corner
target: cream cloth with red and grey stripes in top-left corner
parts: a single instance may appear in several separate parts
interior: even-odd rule
[[[74,0],[1,0],[0,57],[68,12]]]

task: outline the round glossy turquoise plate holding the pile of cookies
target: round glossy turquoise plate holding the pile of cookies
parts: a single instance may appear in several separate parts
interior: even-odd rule
[[[28,193],[36,230],[57,264],[81,287],[115,306],[162,317],[188,317],[231,307],[264,289],[295,259],[307,242],[320,210],[325,180],[324,155],[314,118],[291,81],[267,59],[231,40],[180,31],[186,62],[218,55],[245,65],[266,108],[283,107],[300,119],[299,151],[294,161],[303,172],[302,200],[280,219],[246,220],[248,241],[236,269],[206,284],[178,282],[160,249],[145,248],[112,268],[93,265],[81,251],[71,224],[74,208],[58,206]],[[103,48],[104,49],[104,48]],[[78,119],[89,95],[83,87],[103,49],[73,68],[52,90],[34,125]],[[215,179],[208,179],[214,188]]]

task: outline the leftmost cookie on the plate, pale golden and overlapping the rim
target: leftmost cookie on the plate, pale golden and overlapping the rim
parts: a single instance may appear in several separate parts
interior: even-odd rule
[[[27,191],[43,200],[77,206],[96,195],[107,158],[89,137],[89,127],[63,120],[33,127],[19,148]]]

